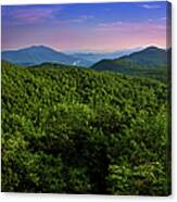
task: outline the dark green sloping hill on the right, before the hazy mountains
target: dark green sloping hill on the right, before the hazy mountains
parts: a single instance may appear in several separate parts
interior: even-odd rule
[[[126,75],[146,76],[167,83],[167,54],[168,52],[163,49],[150,47],[119,59],[102,60],[91,68],[117,72]]]

